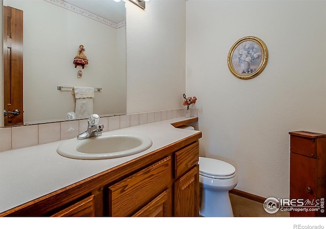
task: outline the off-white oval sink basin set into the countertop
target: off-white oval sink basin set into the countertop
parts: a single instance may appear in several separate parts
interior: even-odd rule
[[[143,134],[111,134],[87,139],[73,138],[61,144],[57,152],[74,159],[109,159],[143,152],[152,146],[152,140]]]

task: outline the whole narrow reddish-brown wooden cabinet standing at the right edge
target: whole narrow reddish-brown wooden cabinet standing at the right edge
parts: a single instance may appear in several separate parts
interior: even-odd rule
[[[290,216],[326,216],[326,134],[290,134]],[[296,211],[305,208],[307,211]],[[295,209],[295,210],[294,210]]]

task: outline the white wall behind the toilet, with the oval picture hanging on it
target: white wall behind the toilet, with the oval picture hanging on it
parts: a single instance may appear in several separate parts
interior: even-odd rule
[[[324,1],[187,1],[186,92],[198,98],[201,155],[232,163],[236,189],[288,197],[288,132],[326,132],[325,11]],[[227,66],[245,36],[269,53],[249,80]]]

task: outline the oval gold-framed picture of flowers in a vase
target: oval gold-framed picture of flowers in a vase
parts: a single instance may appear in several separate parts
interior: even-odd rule
[[[228,67],[240,79],[259,75],[267,64],[265,43],[257,37],[248,36],[236,41],[228,54]]]

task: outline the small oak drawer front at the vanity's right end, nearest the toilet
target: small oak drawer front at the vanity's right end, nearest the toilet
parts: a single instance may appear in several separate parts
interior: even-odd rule
[[[178,178],[194,165],[198,164],[199,160],[199,143],[194,144],[175,153],[174,169],[175,177]]]

